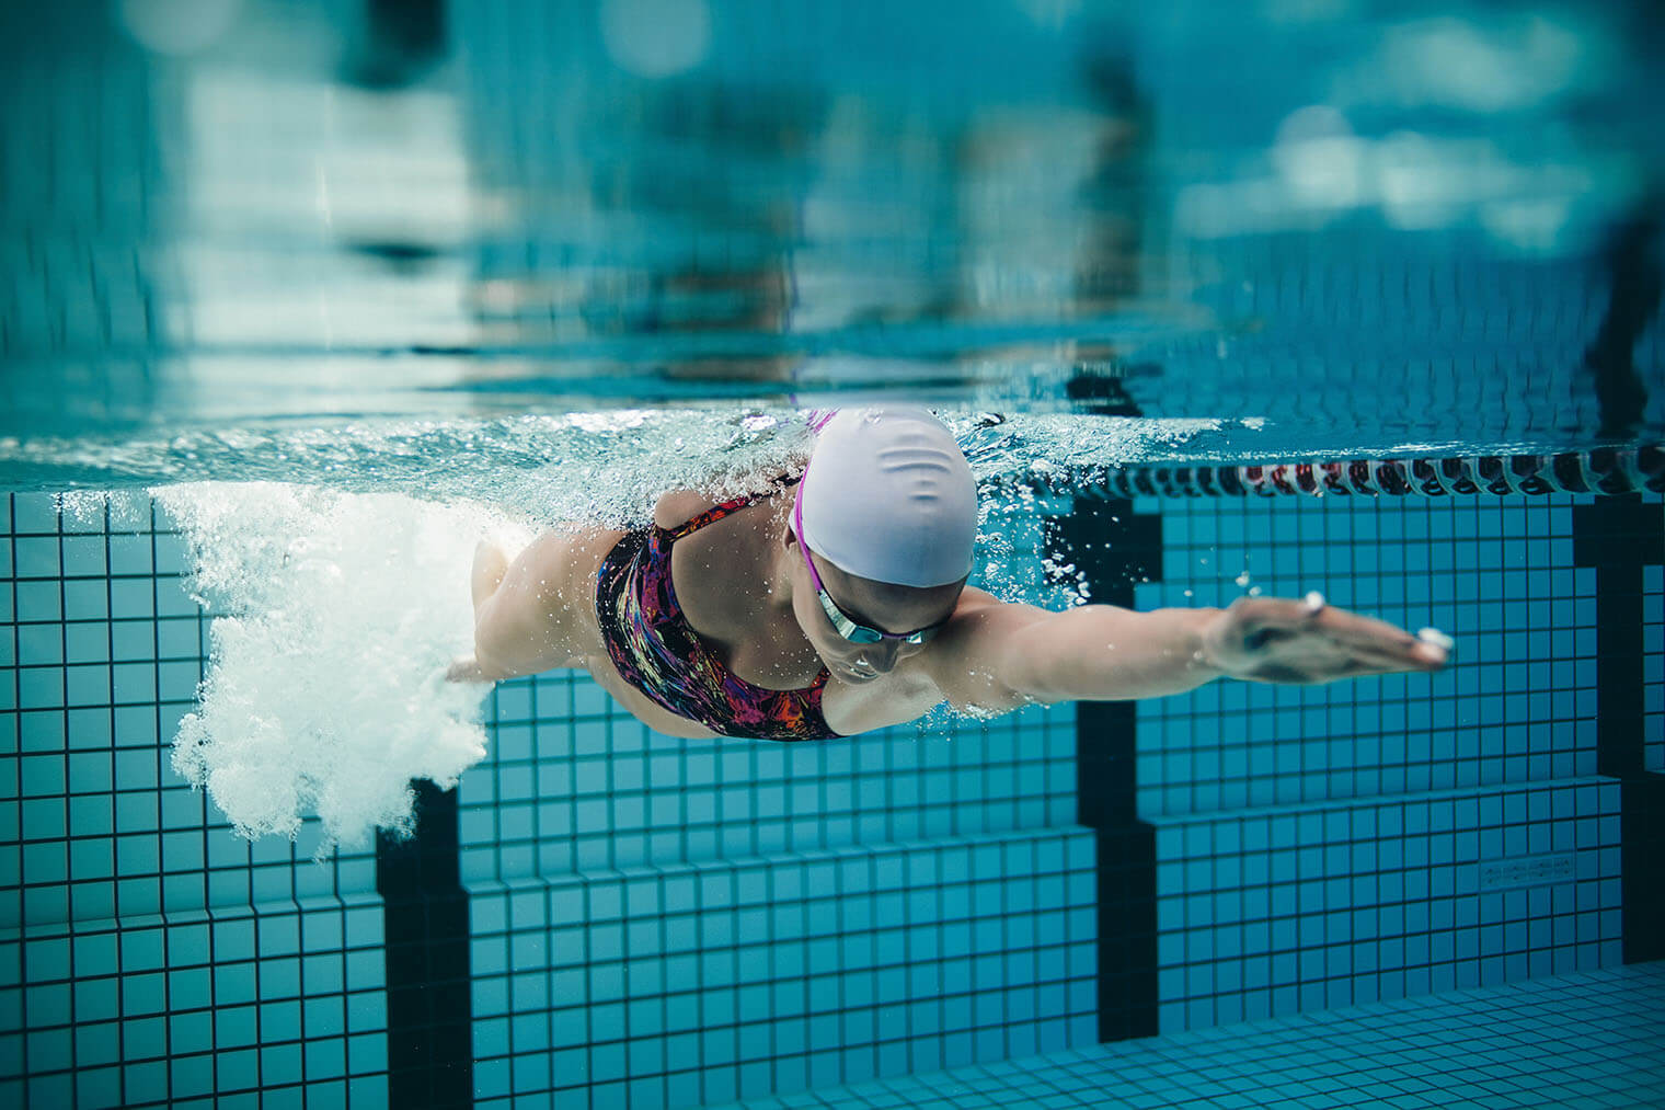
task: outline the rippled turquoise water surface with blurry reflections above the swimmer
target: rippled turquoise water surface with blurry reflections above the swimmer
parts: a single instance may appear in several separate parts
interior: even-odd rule
[[[8,487],[874,392],[1252,422],[1190,460],[1660,433],[1628,8],[210,7],[7,15]]]

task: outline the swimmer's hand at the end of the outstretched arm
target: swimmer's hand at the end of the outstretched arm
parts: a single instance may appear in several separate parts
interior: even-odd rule
[[[1360,675],[1430,672],[1445,667],[1452,642],[1304,600],[1240,597],[1202,630],[1199,662],[1232,678],[1314,685]]]

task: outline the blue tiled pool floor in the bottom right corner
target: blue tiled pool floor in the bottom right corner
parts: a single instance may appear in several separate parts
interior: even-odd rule
[[[744,1105],[1653,1107],[1665,1090],[1662,993],[1665,963],[1642,963]]]

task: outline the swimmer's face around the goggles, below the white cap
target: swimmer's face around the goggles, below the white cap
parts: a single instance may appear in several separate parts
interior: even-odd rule
[[[788,543],[798,543],[796,537],[791,533],[788,537]],[[793,582],[793,610],[809,643],[834,677],[847,683],[872,682],[896,670],[901,660],[926,650],[926,643],[906,640],[852,643],[841,637],[821,608],[804,560],[799,557],[794,562],[798,572]],[[881,632],[914,632],[947,620],[966,588],[964,582],[922,588],[874,582],[844,573],[824,558],[816,560],[816,573],[821,575],[828,597],[846,617]]]

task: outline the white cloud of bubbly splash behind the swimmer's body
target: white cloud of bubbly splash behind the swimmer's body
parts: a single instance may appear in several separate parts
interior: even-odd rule
[[[178,523],[210,612],[200,705],[173,767],[238,833],[316,857],[376,828],[408,835],[413,778],[451,787],[486,753],[485,685],[445,682],[471,650],[468,568],[478,538],[524,542],[481,505],[276,483],[155,492]]]

